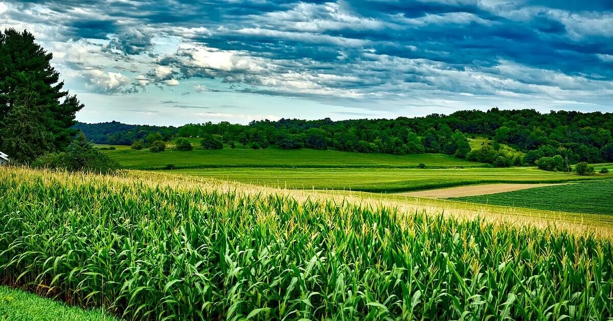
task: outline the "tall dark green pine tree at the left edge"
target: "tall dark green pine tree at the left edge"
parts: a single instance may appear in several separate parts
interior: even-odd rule
[[[0,32],[0,150],[21,162],[65,149],[83,108],[63,90],[53,55],[34,40],[28,31]]]

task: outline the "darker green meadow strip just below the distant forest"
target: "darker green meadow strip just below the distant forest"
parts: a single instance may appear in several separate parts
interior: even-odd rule
[[[164,169],[168,164],[174,168],[415,168],[419,163],[430,168],[486,165],[443,154],[399,156],[337,150],[253,150],[227,147],[222,150],[196,147],[188,152],[167,149],[165,152],[151,153],[149,150],[132,150],[129,146],[116,148],[104,152],[130,169]]]

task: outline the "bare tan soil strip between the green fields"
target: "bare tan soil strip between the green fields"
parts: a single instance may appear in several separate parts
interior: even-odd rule
[[[407,193],[398,193],[404,196],[429,197],[429,198],[449,198],[462,196],[477,196],[485,194],[503,193],[517,190],[526,190],[527,188],[535,188],[541,186],[553,186],[561,184],[487,184],[487,185],[470,185],[451,188],[440,188],[438,190],[414,191]]]

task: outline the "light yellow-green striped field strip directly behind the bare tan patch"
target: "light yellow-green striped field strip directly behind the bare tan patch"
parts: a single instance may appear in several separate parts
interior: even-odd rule
[[[612,177],[579,176],[535,168],[343,169],[213,168],[168,171],[280,188],[400,192],[482,183],[559,183]]]

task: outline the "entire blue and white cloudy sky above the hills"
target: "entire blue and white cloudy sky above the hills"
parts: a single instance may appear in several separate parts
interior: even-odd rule
[[[84,122],[613,111],[611,0],[4,1]]]

